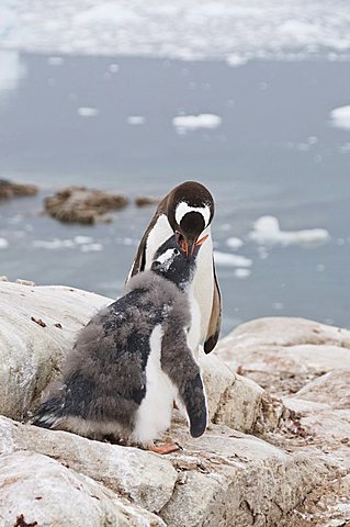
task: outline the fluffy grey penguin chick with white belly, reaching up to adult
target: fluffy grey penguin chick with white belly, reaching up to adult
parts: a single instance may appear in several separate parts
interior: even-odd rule
[[[167,453],[155,446],[169,427],[173,400],[185,407],[193,437],[206,427],[200,368],[188,346],[188,290],[200,246],[189,256],[172,235],[157,250],[151,269],[126,285],[125,294],[94,315],[80,332],[63,381],[31,423]]]

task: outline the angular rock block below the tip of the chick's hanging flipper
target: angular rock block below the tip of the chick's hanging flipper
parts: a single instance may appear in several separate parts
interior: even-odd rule
[[[160,512],[171,527],[279,525],[327,472],[323,463],[224,426],[200,439],[179,429],[177,439],[184,450],[171,458],[181,479]]]

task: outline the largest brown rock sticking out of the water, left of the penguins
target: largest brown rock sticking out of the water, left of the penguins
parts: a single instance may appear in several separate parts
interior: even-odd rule
[[[128,200],[124,195],[86,187],[68,187],[45,199],[46,212],[66,223],[93,224],[110,221],[105,216],[106,212],[124,209],[127,204]]]

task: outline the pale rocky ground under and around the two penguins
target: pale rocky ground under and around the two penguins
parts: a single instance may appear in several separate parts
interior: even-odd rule
[[[350,332],[245,324],[201,356],[211,424],[158,456],[22,424],[110,300],[0,281],[0,526],[345,527]]]

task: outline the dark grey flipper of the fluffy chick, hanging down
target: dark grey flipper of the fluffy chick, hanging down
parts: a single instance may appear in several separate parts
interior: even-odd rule
[[[204,434],[207,411],[204,386],[197,363],[187,345],[187,336],[170,328],[165,332],[161,343],[161,368],[178,388],[190,421],[192,437]]]

